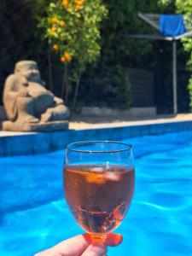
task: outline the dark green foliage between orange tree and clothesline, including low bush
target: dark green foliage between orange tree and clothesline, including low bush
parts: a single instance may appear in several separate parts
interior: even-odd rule
[[[102,24],[101,61],[95,69],[88,69],[79,98],[93,106],[130,108],[131,84],[125,68],[150,68],[154,63],[153,42],[127,38],[126,35],[154,31],[138,18],[137,12],[150,10],[155,13],[157,3],[152,0],[105,0],[104,3],[108,7],[108,19]],[[83,93],[85,91],[92,96],[92,102]]]

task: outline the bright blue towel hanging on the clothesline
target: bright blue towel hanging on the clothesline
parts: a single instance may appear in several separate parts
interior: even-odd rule
[[[185,32],[183,15],[160,15],[160,32],[175,37]]]

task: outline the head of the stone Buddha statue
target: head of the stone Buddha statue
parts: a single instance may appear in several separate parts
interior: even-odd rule
[[[40,82],[41,76],[35,61],[19,61],[15,65],[15,73],[24,76],[28,81]]]

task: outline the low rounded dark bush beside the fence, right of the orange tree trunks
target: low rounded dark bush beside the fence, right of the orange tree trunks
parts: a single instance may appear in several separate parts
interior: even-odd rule
[[[82,79],[79,104],[90,107],[130,108],[131,84],[125,69],[116,65],[89,69]],[[83,100],[83,102],[82,102]]]

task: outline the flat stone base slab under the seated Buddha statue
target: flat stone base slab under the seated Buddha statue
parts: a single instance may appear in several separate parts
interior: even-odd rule
[[[68,129],[68,120],[37,124],[4,121],[2,128],[3,131],[64,131]]]

